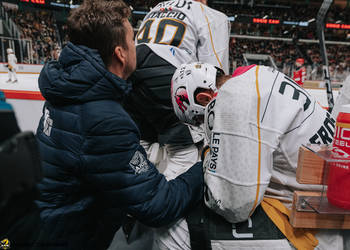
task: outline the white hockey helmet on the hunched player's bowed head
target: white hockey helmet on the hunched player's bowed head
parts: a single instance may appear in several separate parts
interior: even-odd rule
[[[216,73],[220,70],[208,63],[182,64],[171,80],[171,101],[180,121],[198,126],[203,121],[205,106],[196,102],[195,94],[200,89],[216,88]]]

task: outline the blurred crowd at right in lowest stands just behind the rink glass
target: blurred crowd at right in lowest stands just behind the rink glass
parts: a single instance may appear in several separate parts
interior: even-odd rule
[[[333,81],[343,81],[350,74],[350,46],[327,45],[330,76]],[[252,40],[231,38],[230,61],[232,69],[244,65],[243,54],[270,55],[283,73],[291,75],[295,60],[305,59],[308,80],[322,79],[322,58],[319,44],[306,44],[277,40]]]

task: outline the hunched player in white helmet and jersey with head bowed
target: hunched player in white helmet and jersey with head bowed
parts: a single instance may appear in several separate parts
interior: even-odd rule
[[[314,97],[283,73],[256,65],[227,76],[209,64],[185,64],[175,72],[171,90],[178,118],[204,122],[209,142],[203,166],[210,210],[203,206],[187,218],[190,229],[193,222],[194,231],[203,227],[202,234],[192,232],[192,246],[343,249],[340,231],[297,232],[286,216],[294,190],[320,188],[297,183],[299,147],[333,138],[335,121]],[[184,224],[176,240],[186,242]]]

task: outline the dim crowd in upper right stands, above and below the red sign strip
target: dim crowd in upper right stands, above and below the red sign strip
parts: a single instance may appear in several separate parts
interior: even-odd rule
[[[231,32],[239,35],[271,36],[271,37],[293,37],[303,39],[317,39],[316,22],[311,20],[317,16],[322,1],[317,4],[297,5],[291,3],[285,8],[263,7],[259,4],[215,4],[215,8],[225,12],[228,16],[235,17],[236,20],[247,18],[267,18],[280,20],[279,25],[254,24],[247,22],[233,22]],[[299,25],[283,25],[283,21],[307,22],[308,27]],[[349,8],[341,8],[333,5],[328,12],[327,23],[350,24]],[[327,40],[344,41],[349,39],[348,30],[327,29],[325,36]]]

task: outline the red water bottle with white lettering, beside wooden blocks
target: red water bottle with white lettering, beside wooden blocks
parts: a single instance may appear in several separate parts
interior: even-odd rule
[[[350,160],[350,105],[343,105],[340,108],[334,133],[333,151],[336,156]],[[350,163],[332,162],[330,164],[327,198],[337,207],[350,209]]]

